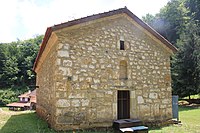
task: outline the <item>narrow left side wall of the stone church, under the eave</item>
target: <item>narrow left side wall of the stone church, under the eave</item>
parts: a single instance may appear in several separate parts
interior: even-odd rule
[[[56,39],[53,38],[49,43],[55,43]],[[49,47],[49,45],[47,45]],[[55,104],[55,87],[56,80],[59,78],[55,75],[57,70],[57,45],[55,44],[47,53],[45,60],[42,61],[40,68],[37,71],[36,84],[39,86],[36,92],[37,114],[46,120],[52,126],[55,123],[54,112],[56,109]],[[44,55],[43,55],[44,56]]]

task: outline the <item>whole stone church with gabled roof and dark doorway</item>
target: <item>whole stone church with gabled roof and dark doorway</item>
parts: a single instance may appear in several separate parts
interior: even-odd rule
[[[176,51],[126,7],[48,27],[33,68],[37,114],[56,130],[171,119]]]

